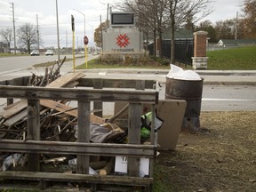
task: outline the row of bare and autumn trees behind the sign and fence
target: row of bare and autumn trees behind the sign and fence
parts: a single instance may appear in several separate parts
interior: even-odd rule
[[[256,38],[256,0],[244,0],[244,4],[241,4],[243,14],[239,14],[239,18],[235,16],[234,19],[220,20],[216,24],[205,20],[196,26],[199,20],[204,20],[212,13],[211,3],[211,0],[124,0],[116,4],[115,8],[135,13],[136,26],[143,32],[147,44],[148,39],[153,39],[156,43],[156,37],[161,44],[163,33],[170,33],[172,50],[174,31],[177,28],[207,31],[212,43],[220,39]],[[99,47],[101,30],[107,31],[107,27],[108,21],[95,29],[94,41]],[[161,56],[162,52],[159,51]],[[174,52],[171,52],[171,62],[174,63]]]

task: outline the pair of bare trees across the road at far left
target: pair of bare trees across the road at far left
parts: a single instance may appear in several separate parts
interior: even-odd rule
[[[5,28],[0,30],[0,36],[3,39],[4,44],[8,44],[9,52],[11,52],[10,44],[13,40],[12,35],[12,28]],[[25,23],[24,25],[21,25],[20,28],[18,28],[17,32],[18,41],[17,44],[21,48],[25,48],[28,53],[31,52],[31,48],[34,46],[38,46],[38,33],[36,27],[29,23]],[[40,38],[40,37],[39,37]],[[41,42],[42,40],[40,40]],[[17,46],[17,45],[16,45]]]

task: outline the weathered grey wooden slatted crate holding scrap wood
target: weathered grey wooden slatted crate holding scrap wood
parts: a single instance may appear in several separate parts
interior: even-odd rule
[[[87,82],[86,79],[83,81]],[[97,81],[104,82],[104,80],[94,80],[94,87]],[[122,80],[119,80],[119,82],[119,85],[124,84]],[[113,84],[113,87],[115,87],[116,83]],[[79,85],[83,86],[84,84],[80,82]],[[151,85],[153,84],[151,83]],[[158,92],[156,90],[143,91],[145,81],[135,81],[133,86],[140,90],[104,90],[101,89],[104,84],[100,85],[100,88],[98,86],[98,89],[0,85],[1,98],[28,100],[28,140],[0,140],[1,152],[28,153],[28,172],[0,172],[0,177],[12,180],[40,180],[42,188],[44,188],[44,181],[50,180],[90,183],[93,186],[92,191],[96,191],[97,187],[95,186],[100,184],[140,186],[145,188],[146,191],[150,191],[153,183],[153,160],[156,156],[157,142],[152,126],[150,144],[140,144],[140,116],[142,115],[143,103],[149,103],[152,106],[153,116],[155,116]],[[42,100],[77,100],[79,132],[77,142],[40,140],[39,108]],[[98,103],[125,101],[129,103],[128,144],[90,142],[91,101]],[[98,108],[99,106],[98,104]],[[40,154],[76,155],[77,173],[40,172]],[[89,174],[90,156],[128,156],[127,175],[102,177]],[[150,159],[148,178],[140,177],[140,157]]]

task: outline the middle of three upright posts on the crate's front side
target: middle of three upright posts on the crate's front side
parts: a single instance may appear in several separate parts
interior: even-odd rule
[[[90,101],[78,101],[78,142],[90,142]],[[89,157],[77,156],[77,173],[89,174]]]

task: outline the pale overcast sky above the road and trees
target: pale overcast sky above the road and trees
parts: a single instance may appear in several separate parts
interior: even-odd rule
[[[89,38],[89,45],[94,45],[92,31],[99,27],[100,15],[102,21],[105,21],[108,4],[111,6],[116,2],[120,0],[58,0],[60,47],[72,44],[71,14],[74,15],[76,22],[76,46],[77,43],[78,46],[83,44],[84,15],[86,36]],[[239,4],[242,2],[243,0],[215,0],[211,4],[212,14],[204,20],[215,23],[218,20],[235,18],[236,12],[241,12]],[[57,46],[56,0],[0,0],[0,29],[13,28],[12,3],[16,29],[25,23],[34,24],[36,27],[37,14],[39,33],[44,46]]]

